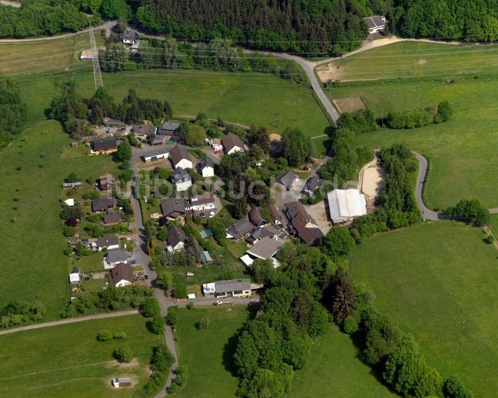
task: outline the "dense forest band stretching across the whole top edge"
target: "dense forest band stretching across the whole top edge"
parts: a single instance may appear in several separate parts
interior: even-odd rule
[[[368,34],[361,18],[377,14],[386,33],[403,37],[498,40],[494,0],[27,0],[0,6],[0,37],[77,31],[104,17],[177,38],[337,55],[360,46]]]

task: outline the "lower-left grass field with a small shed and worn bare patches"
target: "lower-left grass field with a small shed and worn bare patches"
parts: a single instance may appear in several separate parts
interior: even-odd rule
[[[136,397],[149,377],[152,347],[163,342],[146,322],[128,315],[0,336],[1,397]],[[126,338],[99,342],[102,329]],[[136,360],[120,365],[112,355],[124,343]],[[135,388],[115,389],[114,377],[130,377]]]

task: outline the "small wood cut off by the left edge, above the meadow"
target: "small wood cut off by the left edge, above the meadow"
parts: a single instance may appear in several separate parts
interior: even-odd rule
[[[13,8],[13,7],[0,7]],[[0,23],[0,31],[1,31]],[[13,80],[0,75],[0,148],[20,133],[26,122],[26,107],[21,102],[19,90]]]

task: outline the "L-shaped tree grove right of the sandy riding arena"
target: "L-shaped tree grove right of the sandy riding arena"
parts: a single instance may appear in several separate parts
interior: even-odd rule
[[[380,206],[372,214],[357,217],[353,221],[351,234],[357,242],[376,232],[406,227],[421,220],[415,199],[415,156],[404,143],[395,143],[381,149],[380,159],[386,172]]]

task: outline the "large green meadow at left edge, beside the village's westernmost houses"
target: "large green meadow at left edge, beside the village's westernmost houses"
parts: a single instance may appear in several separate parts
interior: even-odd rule
[[[22,139],[1,152],[0,306],[13,298],[32,302],[38,297],[47,307],[46,319],[54,319],[70,297],[61,185],[71,171],[84,179],[117,174],[118,167],[111,155],[61,159],[60,146],[71,138],[55,121],[28,129]]]

